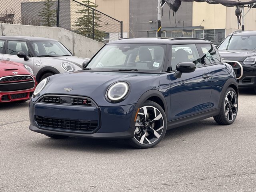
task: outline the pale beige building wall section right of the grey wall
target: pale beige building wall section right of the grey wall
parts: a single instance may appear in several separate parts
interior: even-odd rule
[[[192,25],[204,26],[204,29],[226,28],[226,7],[221,4],[193,2]],[[204,20],[204,21],[203,21]]]

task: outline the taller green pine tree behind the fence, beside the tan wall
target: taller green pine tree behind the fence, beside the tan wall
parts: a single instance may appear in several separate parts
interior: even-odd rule
[[[84,0],[82,1],[82,3],[92,8],[98,7],[98,5],[90,2],[90,0]],[[83,9],[76,12],[81,16],[76,19],[76,21],[74,22],[75,25],[73,26],[76,27],[76,31],[78,34],[92,39],[92,9],[81,4],[78,4],[78,6],[82,6]],[[99,24],[100,22],[100,14],[94,11],[94,40],[104,42],[105,32],[99,30],[99,28],[102,27]]]

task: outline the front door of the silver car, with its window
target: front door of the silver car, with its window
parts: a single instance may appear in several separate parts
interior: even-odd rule
[[[33,57],[30,56],[30,52],[28,50],[28,44],[26,41],[16,41],[16,40],[8,40],[5,54],[3,55],[4,60],[11,60],[14,62],[19,62],[29,66],[33,69]],[[23,51],[28,55],[28,60],[25,61],[24,58],[18,58],[17,53],[19,51]]]

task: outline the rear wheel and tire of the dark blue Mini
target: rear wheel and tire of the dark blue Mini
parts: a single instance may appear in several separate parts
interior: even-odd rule
[[[220,113],[213,118],[220,125],[230,125],[236,120],[237,112],[238,96],[236,91],[229,87],[222,98]]]

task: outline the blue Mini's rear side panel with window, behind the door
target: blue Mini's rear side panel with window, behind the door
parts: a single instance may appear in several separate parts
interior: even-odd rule
[[[212,96],[210,107],[217,108],[222,88],[230,76],[228,67],[222,61],[220,54],[212,44],[197,44],[202,64],[212,76]]]

